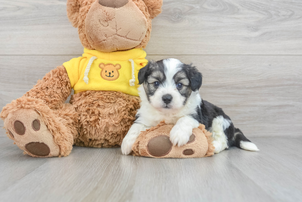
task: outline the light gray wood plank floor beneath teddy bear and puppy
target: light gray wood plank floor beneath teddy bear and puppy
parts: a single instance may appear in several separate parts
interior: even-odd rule
[[[299,201],[302,137],[251,138],[259,152],[231,148],[199,159],[124,156],[75,146],[33,158],[0,138],[1,201]],[[286,144],[285,144],[286,142]],[[288,145],[289,144],[289,145]],[[47,194],[46,194],[47,193]]]

